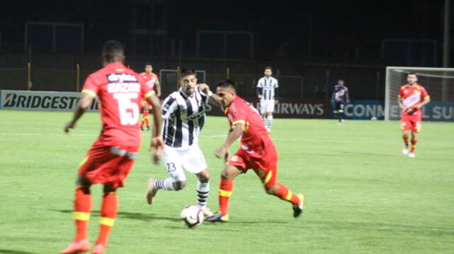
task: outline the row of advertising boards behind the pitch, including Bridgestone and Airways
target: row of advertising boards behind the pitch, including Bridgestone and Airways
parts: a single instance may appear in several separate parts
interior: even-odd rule
[[[38,111],[72,111],[79,101],[79,92],[44,92],[0,90],[0,109],[38,110]],[[260,101],[256,97],[245,98],[256,109]],[[89,111],[98,110],[95,99]],[[384,101],[352,100],[345,105],[346,119],[384,118]],[[207,107],[207,114],[222,116],[223,111],[215,106]],[[400,118],[398,106],[393,106],[390,114]],[[334,118],[333,104],[326,99],[281,99],[275,105],[277,118]],[[454,102],[431,101],[423,108],[423,119],[428,121],[454,121]]]

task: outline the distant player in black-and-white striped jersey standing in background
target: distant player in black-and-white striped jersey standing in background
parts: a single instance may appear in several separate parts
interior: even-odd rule
[[[265,67],[265,77],[258,79],[257,96],[260,99],[260,114],[262,114],[263,123],[267,128],[268,133],[271,132],[272,113],[275,111],[277,100],[277,92],[279,82],[272,75],[272,67]]]

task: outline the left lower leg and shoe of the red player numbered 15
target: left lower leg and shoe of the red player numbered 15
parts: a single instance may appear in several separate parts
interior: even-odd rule
[[[88,222],[92,211],[91,185],[92,183],[82,176],[77,176],[73,211],[76,236],[74,241],[60,252],[61,254],[83,253],[91,248],[87,238]]]

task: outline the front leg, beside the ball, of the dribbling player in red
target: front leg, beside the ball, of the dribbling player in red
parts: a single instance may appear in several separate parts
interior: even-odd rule
[[[234,155],[232,158],[235,158]],[[238,158],[238,156],[237,156]],[[237,175],[243,172],[242,167],[234,165],[226,165],[221,172],[221,182],[219,182],[218,189],[218,202],[219,202],[219,211],[214,216],[206,218],[206,221],[209,222],[226,222],[228,221],[228,201],[233,192],[233,179]]]

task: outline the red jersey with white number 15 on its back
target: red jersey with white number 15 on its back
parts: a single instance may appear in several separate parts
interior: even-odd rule
[[[108,146],[140,145],[140,104],[154,93],[143,77],[114,62],[90,74],[82,92],[97,95],[102,105],[99,142]]]

